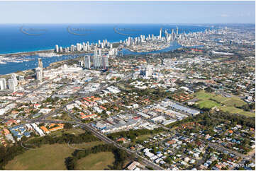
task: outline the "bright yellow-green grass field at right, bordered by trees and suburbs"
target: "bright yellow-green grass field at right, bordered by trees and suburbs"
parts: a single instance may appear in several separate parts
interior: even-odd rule
[[[221,95],[206,93],[204,90],[201,90],[197,93],[194,93],[194,97],[199,99],[199,102],[196,102],[196,104],[199,105],[201,109],[204,107],[208,109],[211,109],[212,107],[218,107],[224,112],[243,114],[247,117],[255,117],[255,113],[246,112],[237,108],[245,105],[246,102],[235,95],[233,95],[231,98],[226,98]]]

